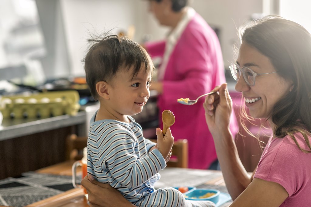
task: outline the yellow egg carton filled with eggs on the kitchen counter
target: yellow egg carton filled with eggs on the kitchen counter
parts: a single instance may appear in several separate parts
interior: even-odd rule
[[[0,97],[0,112],[3,118],[74,116],[80,109],[79,98],[75,90],[3,96]]]

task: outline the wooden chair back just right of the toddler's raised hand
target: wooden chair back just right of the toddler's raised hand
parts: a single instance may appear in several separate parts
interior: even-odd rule
[[[150,139],[156,142],[156,139]],[[174,142],[172,156],[166,163],[167,167],[188,168],[188,140],[179,139]]]

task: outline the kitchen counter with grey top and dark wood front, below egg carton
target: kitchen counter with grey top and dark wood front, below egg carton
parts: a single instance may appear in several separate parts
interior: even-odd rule
[[[82,108],[82,107],[81,107]],[[84,108],[88,110],[88,107]],[[3,119],[0,125],[0,179],[66,160],[67,137],[86,136],[87,110],[75,116]],[[1,121],[1,117],[0,117]]]

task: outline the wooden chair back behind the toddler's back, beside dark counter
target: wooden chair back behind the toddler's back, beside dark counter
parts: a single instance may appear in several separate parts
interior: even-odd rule
[[[86,144],[87,137],[78,137],[76,134],[69,135],[66,140],[66,160],[81,160]]]

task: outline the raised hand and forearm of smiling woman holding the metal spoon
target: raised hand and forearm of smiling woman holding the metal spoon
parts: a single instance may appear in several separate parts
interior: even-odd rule
[[[224,176],[226,187],[235,200],[251,183],[251,176],[246,172],[238,155],[229,123],[232,100],[226,84],[214,89],[204,102],[205,117],[208,128],[213,135],[217,157]]]

